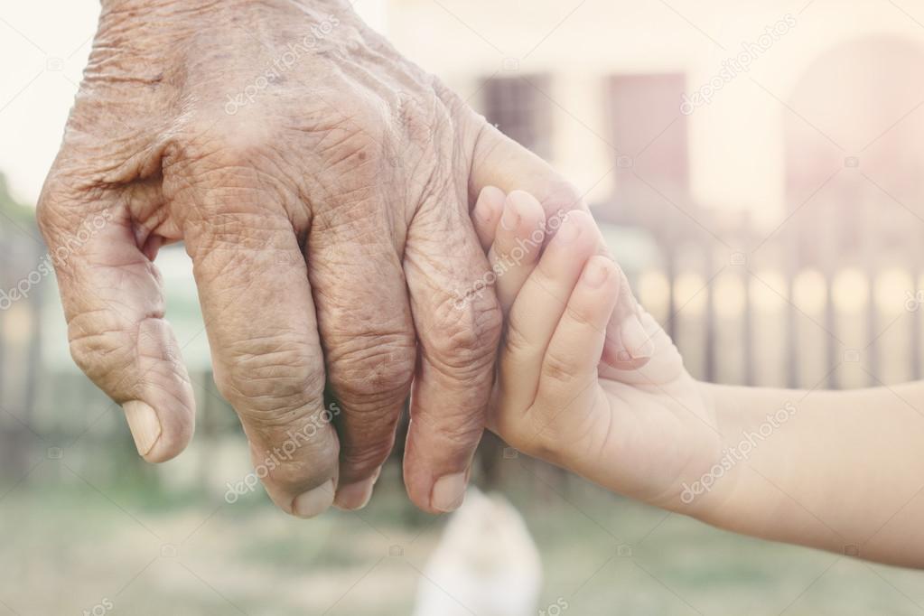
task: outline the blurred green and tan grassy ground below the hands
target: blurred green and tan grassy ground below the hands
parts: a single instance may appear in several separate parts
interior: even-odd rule
[[[304,522],[260,493],[227,504],[143,477],[99,489],[67,462],[0,489],[0,614],[408,614],[443,525],[407,508],[395,467],[367,510]],[[504,464],[541,549],[541,605],[564,599],[562,613],[924,610],[924,574],[734,537],[577,481],[556,493],[541,465]]]

